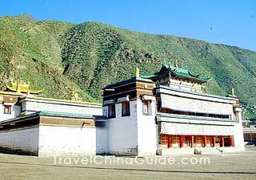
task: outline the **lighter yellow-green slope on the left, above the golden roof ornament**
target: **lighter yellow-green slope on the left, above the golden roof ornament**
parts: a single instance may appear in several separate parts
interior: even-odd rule
[[[50,25],[62,28],[54,31]],[[75,84],[62,75],[59,37],[70,26],[66,22],[36,22],[27,16],[0,18],[0,88],[22,77],[32,88],[43,88],[41,96],[69,98]],[[84,100],[94,100],[82,89],[78,92]]]

